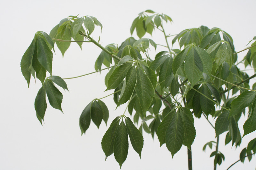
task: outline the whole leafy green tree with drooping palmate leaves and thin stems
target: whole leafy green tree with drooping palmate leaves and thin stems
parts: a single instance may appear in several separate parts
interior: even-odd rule
[[[114,89],[111,95],[116,107],[127,105],[123,115],[111,120],[102,138],[106,159],[114,153],[121,168],[128,154],[129,139],[132,148],[141,156],[144,129],[152,137],[156,134],[160,146],[166,144],[172,157],[185,145],[188,169],[192,169],[191,144],[196,137],[194,118],[208,120],[212,116],[216,119],[215,125],[209,123],[215,129],[216,141],[205,144],[203,150],[215,145],[210,157],[215,157],[216,169],[225,159],[218,150],[222,133],[226,132],[225,144],[232,142],[232,146],[239,146],[242,137],[237,122],[242,114],[248,117],[244,122],[243,137],[256,130],[256,84],[249,85],[256,74],[249,76],[237,67],[244,63],[245,67],[255,69],[256,37],[251,46],[244,49],[248,50],[247,55],[237,61],[237,53],[241,51],[235,52],[233,39],[224,30],[200,26],[171,36],[164,29],[165,22],[171,23],[172,19],[152,10],[141,12],[130,28],[131,34],[136,30],[139,40],[129,37],[120,46],[109,44],[103,47],[100,39],[95,41],[90,36],[95,26],[102,30],[100,21],[92,16],[69,16],[62,19],[50,34],[36,32],[20,66],[28,86],[31,75],[42,83],[35,99],[36,116],[41,124],[47,108],[46,96],[50,105],[62,112],[63,95],[58,88],[68,90],[64,81],[68,78],[52,75],[54,44],[64,55],[71,42],[76,42],[81,49],[83,42],[90,42],[102,49],[95,62],[96,71],[92,73],[108,69],[106,91]],[[152,35],[153,30],[163,33],[163,44],[142,38],[146,33]],[[180,48],[172,48],[174,43],[179,43]],[[159,45],[165,51],[154,56],[148,53],[149,48],[156,49]],[[79,120],[82,134],[88,130],[91,121],[98,128],[102,120],[107,124],[108,107],[101,99],[93,99],[85,106]],[[125,115],[127,110],[133,121]],[[243,162],[246,157],[250,161],[255,153],[256,138],[242,150],[238,161]]]

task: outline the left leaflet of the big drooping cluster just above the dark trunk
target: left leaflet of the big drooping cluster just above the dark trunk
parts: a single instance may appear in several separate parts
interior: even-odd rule
[[[175,111],[170,111],[163,119],[163,121],[159,124],[157,128],[157,137],[160,142],[160,146],[165,144],[165,133],[166,129],[172,121],[172,117],[174,116]]]

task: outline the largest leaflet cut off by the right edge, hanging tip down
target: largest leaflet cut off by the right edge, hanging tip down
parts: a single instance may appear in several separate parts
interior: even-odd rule
[[[248,116],[248,119],[244,122],[244,135],[252,133],[256,130],[256,100],[252,103],[251,115]]]

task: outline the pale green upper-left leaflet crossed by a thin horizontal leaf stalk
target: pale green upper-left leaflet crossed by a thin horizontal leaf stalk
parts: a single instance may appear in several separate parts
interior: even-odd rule
[[[60,40],[68,40],[71,41],[71,31],[68,28],[67,24],[63,24],[58,28],[58,34],[56,36],[57,39]],[[70,42],[64,41],[56,41],[57,47],[60,49],[62,56],[67,51],[68,47],[70,46]]]

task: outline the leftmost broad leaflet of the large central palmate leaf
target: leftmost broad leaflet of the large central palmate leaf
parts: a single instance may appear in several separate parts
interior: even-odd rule
[[[126,73],[132,67],[132,63],[126,63],[116,67],[108,79],[107,90],[115,89],[125,78]]]

